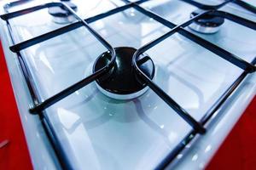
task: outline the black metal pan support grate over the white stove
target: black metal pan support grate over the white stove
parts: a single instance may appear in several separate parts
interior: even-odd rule
[[[185,145],[188,144],[189,141],[194,139],[196,133],[205,133],[206,129],[203,127],[203,125],[205,125],[207,123],[207,121],[212,117],[212,115],[216,111],[218,111],[218,109],[224,104],[226,99],[228,99],[230,97],[230,95],[236,90],[236,88],[239,86],[239,84],[242,82],[242,80],[247,76],[247,74],[256,71],[256,69],[255,69],[256,58],[253,59],[252,63],[248,63],[247,61],[245,61],[244,59],[241,59],[240,57],[236,56],[235,54],[231,54],[230,52],[224,50],[223,48],[218,47],[217,45],[213,44],[212,42],[208,42],[207,40],[205,40],[201,37],[198,37],[195,34],[184,29],[184,27],[189,26],[189,24],[191,24],[194,20],[199,19],[204,14],[213,14],[216,16],[224,17],[225,19],[228,19],[228,20],[232,20],[242,26],[247,26],[248,28],[256,30],[255,22],[253,22],[251,20],[243,19],[234,14],[229,14],[229,13],[226,13],[223,11],[218,11],[218,8],[221,8],[228,3],[236,3],[236,4],[240,5],[242,8],[246,8],[247,10],[256,14],[255,7],[253,7],[252,5],[249,5],[248,3],[242,2],[240,0],[226,0],[224,3],[220,3],[215,6],[201,4],[201,3],[195,2],[193,0],[182,0],[185,3],[195,5],[196,7],[205,9],[206,11],[202,14],[196,15],[194,18],[192,18],[190,20],[183,22],[183,24],[181,24],[179,26],[176,26],[172,22],[165,20],[164,18],[160,17],[157,14],[154,14],[150,10],[139,6],[140,3],[147,2],[148,0],[140,0],[135,3],[131,3],[127,0],[124,0],[124,2],[126,3],[125,5],[118,7],[118,8],[111,9],[106,13],[97,14],[96,16],[90,17],[86,20],[82,20],[73,11],[73,9],[69,8],[65,3],[45,3],[45,4],[38,5],[38,6],[35,6],[32,8],[21,9],[19,11],[8,13],[9,8],[20,5],[22,3],[26,3],[28,1],[31,1],[31,0],[16,1],[13,3],[6,4],[4,6],[4,8],[5,8],[5,11],[7,14],[2,14],[2,15],[0,15],[0,17],[3,20],[6,20],[6,22],[8,24],[10,36],[14,43],[14,45],[11,46],[10,49],[18,55],[21,70],[24,74],[24,77],[26,78],[26,83],[30,90],[30,93],[32,94],[34,107],[32,107],[32,109],[30,111],[33,114],[39,114],[39,116],[41,116],[41,117],[44,116],[42,113],[50,105],[54,105],[56,102],[60,101],[61,99],[64,99],[69,94],[73,94],[73,92],[79,90],[80,88],[83,88],[84,86],[88,85],[90,82],[95,81],[98,77],[102,77],[102,75],[108,73],[108,71],[110,71],[110,69],[113,67],[113,64],[115,61],[115,52],[114,52],[113,47],[111,47],[111,45],[106,40],[104,40],[96,31],[94,31],[88,25],[89,23],[94,22],[96,20],[101,20],[101,19],[108,17],[109,15],[112,15],[112,14],[117,14],[119,12],[124,11],[127,8],[136,8],[141,13],[147,15],[148,17],[153,18],[154,20],[159,21],[161,24],[168,26],[172,29],[171,31],[167,32],[165,35],[155,39],[152,42],[148,42],[148,44],[146,44],[142,48],[139,48],[137,50],[136,54],[134,54],[134,56],[133,56],[133,65],[137,71],[138,76],[141,77],[144,82],[147,82],[148,87],[151,88],[154,91],[154,93],[158,94],[160,96],[160,98],[166,102],[167,105],[170,105],[170,107],[172,107],[172,109],[174,111],[176,111],[179,116],[183,117],[183,119],[186,122],[188,122],[191,127],[193,127],[193,130],[191,130],[191,132],[188,133],[188,135],[183,139],[183,141],[181,141],[180,144],[177,144],[176,148],[174,150],[172,150],[168,156],[166,156],[166,159],[164,159],[162,162],[160,162],[160,165],[158,167],[156,167],[157,169],[162,169],[162,168],[166,167],[170,163],[170,161],[173,161],[176,158],[177,154],[181,150],[183,150]],[[12,18],[18,17],[20,15],[23,15],[23,14],[30,14],[34,11],[37,11],[37,10],[40,10],[43,8],[49,8],[49,7],[66,8],[79,21],[74,22],[68,26],[63,26],[54,31],[49,31],[43,35],[38,36],[38,37],[33,37],[32,39],[26,40],[24,42],[15,43],[15,38],[12,36],[13,34],[12,34],[11,26],[9,24],[9,20]],[[108,65],[106,65],[104,68],[102,68],[100,71],[96,71],[96,73],[91,74],[89,77],[85,77],[82,81],[77,82],[77,83],[73,84],[71,87],[62,90],[59,94],[55,94],[54,96],[50,97],[49,99],[44,100],[44,102],[39,102],[40,99],[38,97],[38,92],[35,90],[36,88],[34,88],[34,83],[33,83],[32,77],[27,69],[26,62],[22,59],[20,50],[29,48],[32,45],[38,44],[39,42],[44,42],[46,40],[49,40],[50,38],[60,36],[61,34],[67,33],[68,31],[73,31],[81,26],[86,27],[87,30],[90,31],[90,33],[102,43],[102,45],[104,45],[106,48],[108,48],[108,50],[112,54],[111,62]],[[153,48],[154,45],[165,40],[167,37],[172,36],[172,34],[174,34],[174,33],[179,33],[179,34],[183,35],[184,37],[187,37],[189,40],[201,45],[204,48],[207,48],[207,50],[211,51],[212,53],[218,54],[219,57],[228,60],[231,64],[236,65],[237,67],[244,70],[243,73],[241,74],[241,76],[238,77],[236,79],[236,81],[233,82],[233,84],[230,86],[230,88],[228,88],[225,91],[225,93],[215,102],[215,104],[212,105],[210,110],[207,111],[206,115],[203,116],[203,118],[201,119],[200,122],[196,122],[195,119],[189,115],[189,113],[187,113],[180,105],[177,105],[177,103],[168,94],[166,94],[166,92],[164,92],[164,90],[162,90],[154,82],[152,82],[146,75],[144,75],[143,71],[141,71],[137,65],[137,57],[140,54],[143,54],[149,48]],[[59,157],[61,157],[64,160],[64,163],[63,163],[63,161],[60,160],[62,167],[64,167],[64,168],[71,167],[68,164],[67,157],[63,156],[64,155],[63,149],[61,148],[61,146],[58,145],[58,140],[55,137],[56,136],[55,132],[53,131],[52,127],[49,126],[49,122],[46,118],[44,118],[43,124],[44,124],[44,127],[46,128],[46,130],[48,131],[48,133],[50,134],[49,137],[51,138],[52,141],[54,141],[53,144],[54,144],[56,154],[61,155]]]

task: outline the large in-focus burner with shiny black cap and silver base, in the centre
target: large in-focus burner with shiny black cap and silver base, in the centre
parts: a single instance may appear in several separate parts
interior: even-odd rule
[[[148,87],[137,77],[132,65],[132,57],[136,52],[135,48],[114,48],[116,53],[116,61],[113,69],[108,74],[96,80],[97,88],[102,94],[113,99],[134,99],[144,94]],[[103,53],[96,59],[93,66],[93,72],[100,70],[108,65],[111,59],[110,52]],[[141,60],[142,59],[142,60]],[[146,54],[142,54],[138,59],[140,69],[149,78],[154,77],[153,60]]]

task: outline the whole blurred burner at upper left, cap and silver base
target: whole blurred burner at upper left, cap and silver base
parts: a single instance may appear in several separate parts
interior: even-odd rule
[[[74,11],[77,11],[78,7],[74,3],[71,3],[69,0],[61,1],[66,3],[70,8],[73,8]],[[53,16],[53,20],[57,24],[68,24],[76,20],[73,14],[68,12],[65,8],[50,7],[48,12]]]

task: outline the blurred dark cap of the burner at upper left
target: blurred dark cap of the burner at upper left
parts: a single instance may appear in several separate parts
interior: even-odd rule
[[[68,0],[62,0],[62,1],[65,2],[67,4],[67,6],[72,8],[74,11],[77,11],[78,7],[74,3],[71,3]],[[49,12],[49,14],[51,14],[52,16],[55,16],[55,17],[67,17],[67,16],[71,15],[71,13],[69,11],[67,11],[65,8],[61,8],[61,7],[50,7],[48,12]]]

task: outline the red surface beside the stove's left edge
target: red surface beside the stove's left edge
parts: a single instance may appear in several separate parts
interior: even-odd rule
[[[0,169],[32,169],[0,41]],[[6,141],[9,141],[7,144]]]

